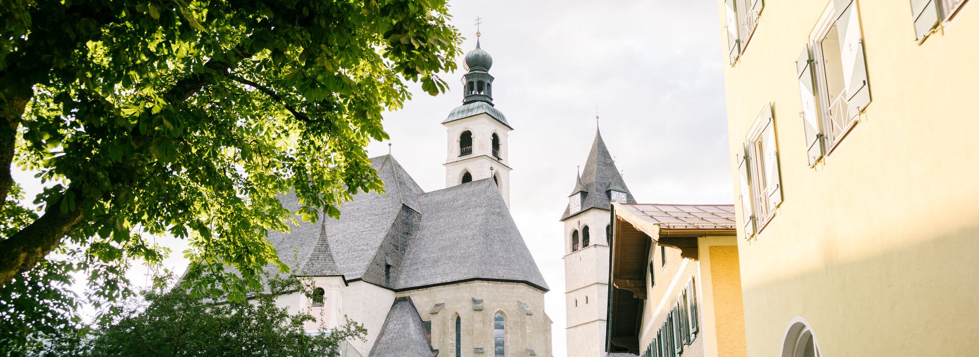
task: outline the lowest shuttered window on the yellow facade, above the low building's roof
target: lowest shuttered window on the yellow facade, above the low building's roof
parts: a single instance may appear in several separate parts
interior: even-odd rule
[[[745,238],[761,230],[782,203],[782,184],[778,166],[778,145],[771,105],[755,118],[745,138],[744,154],[738,161],[741,181],[741,209],[745,217]]]

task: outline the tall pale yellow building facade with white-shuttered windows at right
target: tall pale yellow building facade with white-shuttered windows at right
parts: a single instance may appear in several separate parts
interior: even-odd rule
[[[718,2],[749,356],[979,353],[976,2]]]

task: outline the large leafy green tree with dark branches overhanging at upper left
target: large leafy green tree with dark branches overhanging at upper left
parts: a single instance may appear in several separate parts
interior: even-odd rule
[[[447,17],[443,0],[5,1],[3,214],[11,163],[57,184],[0,241],[0,284],[59,251],[117,298],[128,262],[159,262],[149,237],[169,234],[190,240],[191,292],[243,301],[263,266],[288,269],[269,230],[383,190],[364,147],[388,138],[381,113],[408,81],[445,90]],[[276,199],[290,191],[301,207]]]

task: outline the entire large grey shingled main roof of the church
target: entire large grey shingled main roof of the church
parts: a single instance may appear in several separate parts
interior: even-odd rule
[[[386,192],[354,195],[340,219],[269,233],[284,263],[305,275],[342,275],[390,290],[472,280],[547,290],[492,180],[424,193],[394,157],[371,160]],[[295,195],[280,200],[293,210],[300,205]]]

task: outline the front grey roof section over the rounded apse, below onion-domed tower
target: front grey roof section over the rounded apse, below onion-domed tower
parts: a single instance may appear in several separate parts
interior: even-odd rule
[[[427,193],[421,205],[421,231],[405,255],[399,289],[490,280],[547,290],[491,179]]]

